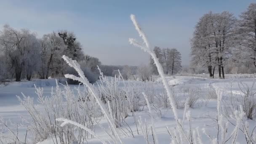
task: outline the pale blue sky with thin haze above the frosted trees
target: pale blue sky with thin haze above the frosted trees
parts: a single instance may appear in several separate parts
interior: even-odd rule
[[[103,64],[146,64],[149,56],[128,43],[141,40],[130,20],[136,15],[152,46],[177,48],[189,64],[190,38],[204,13],[230,11],[235,16],[256,0],[1,0],[0,26],[44,34],[67,29],[86,54]]]

